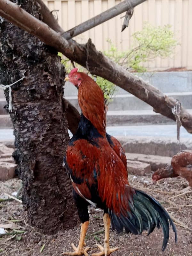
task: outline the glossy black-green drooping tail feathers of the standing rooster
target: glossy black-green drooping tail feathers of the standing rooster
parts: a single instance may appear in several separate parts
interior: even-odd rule
[[[128,187],[128,185],[126,186]],[[161,227],[164,233],[162,245],[162,251],[164,251],[169,240],[170,226],[175,234],[175,242],[177,242],[175,225],[163,206],[153,197],[140,190],[134,190],[135,193],[132,195],[132,200],[129,199],[129,209],[126,212],[116,214],[114,210],[108,210],[112,228],[117,232],[125,230],[126,233],[135,235],[141,234],[143,230],[148,230],[149,235],[155,227]]]

